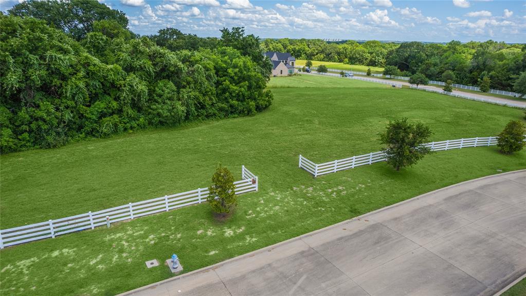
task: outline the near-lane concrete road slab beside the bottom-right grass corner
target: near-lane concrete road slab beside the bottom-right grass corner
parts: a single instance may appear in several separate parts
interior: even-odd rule
[[[526,272],[526,248],[471,224],[424,246],[495,293]]]

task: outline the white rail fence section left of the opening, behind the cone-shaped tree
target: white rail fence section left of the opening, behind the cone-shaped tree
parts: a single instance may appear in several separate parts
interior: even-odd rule
[[[234,182],[236,194],[258,191],[258,177],[247,170],[244,165],[241,166],[241,178],[242,180]],[[97,226],[107,225],[109,227],[111,223],[135,219],[140,216],[168,212],[183,206],[205,202],[208,195],[208,188],[199,188],[183,193],[165,195],[161,198],[130,202],[106,210],[3,229],[0,230],[0,249],[15,244],[55,238],[57,235],[70,232],[94,229]]]

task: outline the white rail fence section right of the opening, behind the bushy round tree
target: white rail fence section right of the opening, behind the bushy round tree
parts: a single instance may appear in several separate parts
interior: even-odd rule
[[[526,135],[524,135],[524,138],[524,141],[526,142]],[[469,139],[432,142],[424,144],[424,146],[429,147],[431,151],[443,151],[467,147],[493,146],[497,145],[497,139],[498,137],[473,137]],[[314,177],[336,173],[342,170],[354,169],[357,166],[373,164],[380,161],[386,161],[386,154],[384,151],[371,152],[369,154],[352,156],[346,159],[339,159],[325,163],[314,163],[301,154],[299,155],[299,167],[306,170]]]

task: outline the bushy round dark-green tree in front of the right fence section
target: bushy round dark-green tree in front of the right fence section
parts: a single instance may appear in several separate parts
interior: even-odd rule
[[[431,152],[423,144],[428,142],[431,130],[422,123],[411,124],[407,118],[389,122],[387,130],[380,134],[380,143],[386,145],[387,163],[397,171],[401,167],[417,163]]]

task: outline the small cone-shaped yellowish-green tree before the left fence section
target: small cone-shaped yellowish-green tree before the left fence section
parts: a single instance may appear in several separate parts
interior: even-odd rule
[[[207,201],[214,213],[221,217],[230,214],[237,205],[237,195],[235,193],[234,176],[230,171],[219,164],[216,172],[212,176],[212,185],[208,188],[210,194]]]

